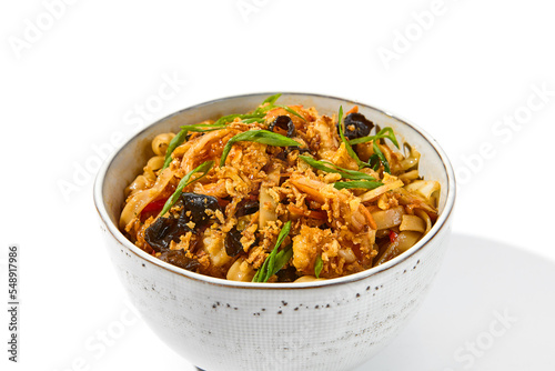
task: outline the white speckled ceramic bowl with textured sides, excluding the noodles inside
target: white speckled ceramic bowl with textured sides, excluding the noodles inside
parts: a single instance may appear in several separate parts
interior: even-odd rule
[[[384,111],[340,98],[284,93],[282,104],[340,104],[422,153],[425,179],[442,184],[440,218],[415,247],[371,270],[311,283],[250,283],[205,277],[143,252],[118,229],[123,189],[152,156],[151,140],[180,126],[254,109],[271,93],[231,97],[169,116],[131,138],[100,170],[94,202],[112,262],[133,304],[173,350],[208,371],[351,370],[405,325],[424,299],[447,248],[455,180],[450,161],[428,134]],[[153,354],[155,357],[155,354]]]

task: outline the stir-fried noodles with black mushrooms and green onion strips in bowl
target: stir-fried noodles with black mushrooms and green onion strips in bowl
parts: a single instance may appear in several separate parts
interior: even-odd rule
[[[152,140],[120,228],[145,252],[234,281],[332,279],[382,264],[430,231],[440,183],[420,153],[357,112],[280,106]]]

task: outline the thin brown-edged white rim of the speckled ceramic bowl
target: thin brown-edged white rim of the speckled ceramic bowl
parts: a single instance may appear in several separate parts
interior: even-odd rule
[[[374,110],[379,113],[389,116],[392,119],[395,119],[403,124],[408,126],[413,130],[415,130],[420,136],[422,136],[435,150],[440,159],[442,160],[442,164],[445,170],[445,174],[447,177],[447,195],[445,199],[445,205],[443,209],[443,212],[440,214],[437,218],[436,222],[432,227],[432,229],[418,241],[414,247],[408,249],[407,251],[403,252],[402,254],[393,258],[392,260],[380,264],[377,267],[370,268],[367,270],[353,273],[350,275],[344,275],[340,278],[334,278],[334,279],[329,279],[329,280],[323,280],[323,281],[312,281],[312,282],[299,282],[299,283],[293,283],[293,282],[276,282],[276,283],[260,283],[260,282],[239,282],[239,281],[229,281],[225,279],[221,278],[215,278],[211,275],[205,275],[196,272],[191,272],[185,269],[172,265],[170,263],[167,263],[149,253],[145,251],[141,250],[139,247],[134,245],[129,241],[125,235],[120,231],[119,227],[113,223],[108,214],[108,210],[105,208],[105,204],[103,202],[102,198],[102,190],[104,186],[104,180],[105,176],[108,173],[108,170],[112,166],[112,161],[118,157],[118,154],[125,148],[128,147],[131,142],[133,142],[138,137],[140,137],[143,132],[147,130],[151,129],[152,127],[167,121],[171,119],[174,116],[181,114],[184,111],[190,111],[194,109],[199,109],[204,106],[209,104],[214,104],[221,101],[230,100],[230,99],[240,99],[240,98],[248,98],[248,97],[269,97],[273,96],[276,93],[281,93],[282,96],[302,96],[302,97],[315,97],[315,98],[327,98],[327,99],[335,99],[335,100],[341,100],[345,102],[350,102],[353,104],[359,104],[363,106],[364,108]],[[391,268],[394,268],[395,265],[400,264],[401,262],[407,260],[412,255],[414,255],[416,252],[422,250],[425,245],[431,242],[431,240],[440,233],[440,231],[444,228],[446,228],[448,224],[446,223],[447,220],[450,219],[454,204],[455,204],[455,195],[456,195],[456,181],[455,181],[455,173],[453,170],[453,167],[451,164],[451,161],[447,158],[447,154],[445,151],[441,148],[441,146],[437,143],[437,141],[430,136],[426,131],[424,131],[422,128],[415,126],[414,123],[401,118],[400,116],[392,114],[386,110],[376,108],[371,104],[363,103],[359,100],[353,100],[349,98],[340,98],[340,97],[334,97],[334,96],[329,96],[329,94],[320,94],[320,93],[306,93],[306,92],[254,92],[254,93],[244,93],[244,94],[236,94],[236,96],[226,96],[222,98],[216,98],[210,101],[196,103],[186,108],[183,108],[176,112],[170,113],[148,126],[145,126],[142,130],[138,131],[137,133],[132,134],[123,144],[121,144],[115,151],[113,151],[102,163],[102,167],[99,169],[95,180],[94,180],[94,186],[93,186],[93,201],[94,201],[94,207],[97,209],[97,212],[99,213],[100,220],[105,227],[105,230],[110,232],[110,234],[114,238],[117,242],[119,242],[121,245],[123,245],[127,250],[135,254],[138,258],[141,258],[163,270],[170,271],[172,273],[175,273],[178,275],[184,277],[186,279],[191,279],[194,281],[200,281],[202,283],[208,283],[208,284],[213,284],[213,285],[219,285],[219,287],[226,287],[226,288],[234,288],[234,289],[264,289],[264,290],[302,290],[302,289],[316,289],[316,288],[327,288],[331,285],[337,285],[337,284],[346,284],[355,281],[361,281],[364,279],[367,279],[370,277],[376,275],[381,272],[384,272]],[[109,247],[110,248],[110,247]]]

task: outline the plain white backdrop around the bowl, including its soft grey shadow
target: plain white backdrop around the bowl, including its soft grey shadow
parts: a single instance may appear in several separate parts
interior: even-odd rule
[[[0,297],[18,243],[22,303],[18,364],[7,361],[0,305],[2,370],[192,370],[128,309],[92,181],[113,144],[157,119],[258,91],[383,108],[435,137],[457,171],[438,282],[361,371],[554,369],[548,1],[69,2],[0,6]],[[492,343],[488,325],[504,311],[517,320]]]

